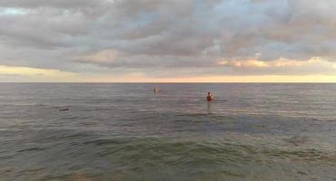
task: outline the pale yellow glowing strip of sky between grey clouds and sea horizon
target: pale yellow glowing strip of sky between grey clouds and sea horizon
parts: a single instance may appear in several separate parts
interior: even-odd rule
[[[143,73],[123,76],[79,74],[58,70],[0,66],[0,77],[16,82],[336,82],[335,75],[228,75],[152,78]],[[0,80],[3,82],[12,82]]]

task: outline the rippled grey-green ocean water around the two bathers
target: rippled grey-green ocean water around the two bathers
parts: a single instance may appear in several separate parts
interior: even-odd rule
[[[0,180],[336,180],[336,84],[0,83]]]

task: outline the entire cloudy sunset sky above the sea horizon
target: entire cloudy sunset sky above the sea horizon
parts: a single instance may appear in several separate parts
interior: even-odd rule
[[[336,82],[336,1],[0,0],[0,81]]]

